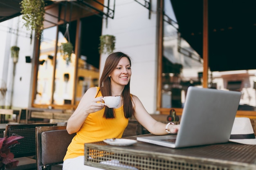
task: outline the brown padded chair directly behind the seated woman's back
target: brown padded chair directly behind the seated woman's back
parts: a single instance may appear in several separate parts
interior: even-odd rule
[[[62,170],[67,146],[76,133],[67,133],[66,126],[36,127],[37,170]]]

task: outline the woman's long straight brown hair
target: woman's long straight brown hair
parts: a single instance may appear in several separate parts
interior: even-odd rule
[[[115,70],[117,64],[119,63],[122,57],[126,57],[129,60],[131,66],[130,57],[122,52],[112,53],[106,59],[105,66],[101,74],[101,79],[99,81],[100,91],[103,96],[112,95],[110,77],[108,77],[108,75],[110,75],[112,71]],[[132,100],[130,96],[130,81],[128,82],[127,85],[124,86],[124,90],[121,95],[123,97],[124,103],[124,116],[126,118],[132,117],[134,110],[132,109]],[[103,117],[115,118],[113,108],[105,107]]]

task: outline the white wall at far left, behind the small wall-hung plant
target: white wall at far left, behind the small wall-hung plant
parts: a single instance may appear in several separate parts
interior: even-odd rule
[[[11,104],[12,78],[13,78],[13,60],[10,55],[11,46],[20,47],[19,59],[16,64],[16,71],[13,84],[13,108],[25,108],[29,106],[30,90],[31,90],[31,63],[26,63],[25,56],[32,56],[33,42],[29,38],[31,31],[27,31],[23,27],[21,16],[0,22],[0,36],[2,41],[0,49],[0,61],[5,62],[6,68],[0,65],[0,79],[7,75],[7,94],[5,98],[5,106]],[[4,38],[3,38],[4,37]],[[32,43],[31,43],[32,42]],[[4,48],[4,50],[2,49]],[[2,71],[2,73],[1,73]]]

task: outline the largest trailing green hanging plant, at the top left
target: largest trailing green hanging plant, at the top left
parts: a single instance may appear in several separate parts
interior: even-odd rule
[[[43,21],[45,20],[44,0],[22,0],[20,2],[22,19],[25,20],[27,30],[35,30],[39,39],[43,32]]]

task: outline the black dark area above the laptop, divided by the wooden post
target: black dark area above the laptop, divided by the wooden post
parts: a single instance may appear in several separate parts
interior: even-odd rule
[[[179,31],[202,57],[203,0],[171,0]],[[211,71],[256,69],[256,0],[208,0]]]

